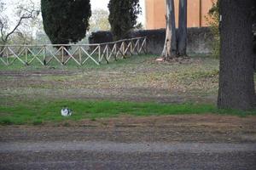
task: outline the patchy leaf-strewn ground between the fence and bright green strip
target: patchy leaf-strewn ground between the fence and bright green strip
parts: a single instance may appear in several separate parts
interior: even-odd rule
[[[86,68],[0,69],[0,94],[6,98],[114,99],[215,103],[218,61],[157,62],[138,56],[124,62]]]

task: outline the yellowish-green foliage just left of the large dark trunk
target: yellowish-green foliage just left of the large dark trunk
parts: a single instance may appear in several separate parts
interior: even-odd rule
[[[219,39],[219,0],[214,3],[212,2],[212,8],[208,12],[207,22],[211,28],[213,34],[212,41],[212,56],[216,59],[219,58],[220,50],[220,39]]]

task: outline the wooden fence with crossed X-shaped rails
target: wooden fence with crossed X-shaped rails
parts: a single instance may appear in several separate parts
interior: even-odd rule
[[[100,65],[128,55],[147,54],[147,51],[146,37],[95,44],[5,45],[0,46],[0,62],[4,65],[13,65],[16,61],[23,65],[32,65],[35,61],[41,65],[54,62],[67,65],[73,60],[77,65],[89,62]]]

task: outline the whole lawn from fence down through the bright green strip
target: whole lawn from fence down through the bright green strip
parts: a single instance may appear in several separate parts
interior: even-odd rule
[[[67,66],[0,62],[0,124],[95,120],[102,117],[175,114],[255,116],[256,111],[220,111],[218,60],[191,55],[183,63],[138,55],[110,64]],[[119,102],[116,102],[119,101]],[[73,116],[61,117],[68,106]]]

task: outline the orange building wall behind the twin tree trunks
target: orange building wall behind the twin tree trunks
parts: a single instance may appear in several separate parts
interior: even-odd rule
[[[175,3],[175,18],[178,19],[178,2]],[[145,0],[146,28],[166,27],[166,0]],[[188,0],[188,27],[207,26],[206,16],[212,8],[212,0]],[[178,26],[178,23],[176,24]]]

